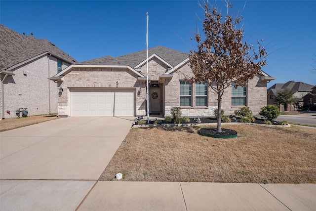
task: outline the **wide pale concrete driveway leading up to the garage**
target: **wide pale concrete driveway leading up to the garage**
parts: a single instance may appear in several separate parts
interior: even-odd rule
[[[1,132],[0,210],[76,210],[133,119],[62,118]]]

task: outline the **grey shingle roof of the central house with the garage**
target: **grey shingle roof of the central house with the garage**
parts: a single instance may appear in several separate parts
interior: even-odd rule
[[[158,55],[160,58],[171,64],[172,66],[176,66],[177,64],[184,61],[188,58],[189,54],[185,52],[181,52],[178,50],[174,50],[171,48],[158,46],[148,49],[148,56],[150,57],[153,54]],[[137,51],[134,53],[118,56],[118,57],[101,57],[97,59],[92,59],[88,61],[81,62],[80,64],[86,65],[128,65],[132,68],[135,68],[138,64],[146,60],[146,49]]]

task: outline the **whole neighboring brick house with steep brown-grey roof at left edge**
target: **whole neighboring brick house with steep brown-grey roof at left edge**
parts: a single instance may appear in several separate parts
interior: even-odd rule
[[[0,24],[0,117],[57,113],[58,87],[49,77],[76,60],[44,39],[21,35]]]

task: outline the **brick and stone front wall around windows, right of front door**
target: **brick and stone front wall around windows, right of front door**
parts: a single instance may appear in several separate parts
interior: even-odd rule
[[[170,109],[180,106],[180,80],[192,77],[189,65],[184,65],[174,72],[171,80],[165,80],[165,115],[170,115]],[[222,109],[225,115],[234,114],[241,106],[232,106],[232,87],[228,87],[222,97]],[[182,107],[184,116],[213,116],[214,109],[217,109],[217,93],[208,87],[207,107],[196,107],[195,105],[195,84],[192,85],[192,107]],[[247,106],[254,115],[258,114],[261,107],[267,105],[267,83],[261,82],[259,77],[249,80],[247,85]]]

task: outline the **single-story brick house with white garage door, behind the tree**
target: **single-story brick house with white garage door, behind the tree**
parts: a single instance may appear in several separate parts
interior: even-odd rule
[[[158,46],[149,49],[149,112],[170,115],[174,106],[189,117],[214,116],[217,95],[209,84],[190,84],[188,54]],[[63,92],[58,96],[58,115],[140,116],[146,115],[146,50],[106,56],[73,64],[51,77]],[[230,87],[223,96],[225,114],[249,106],[254,114],[267,104],[267,82],[262,72],[246,87]]]

